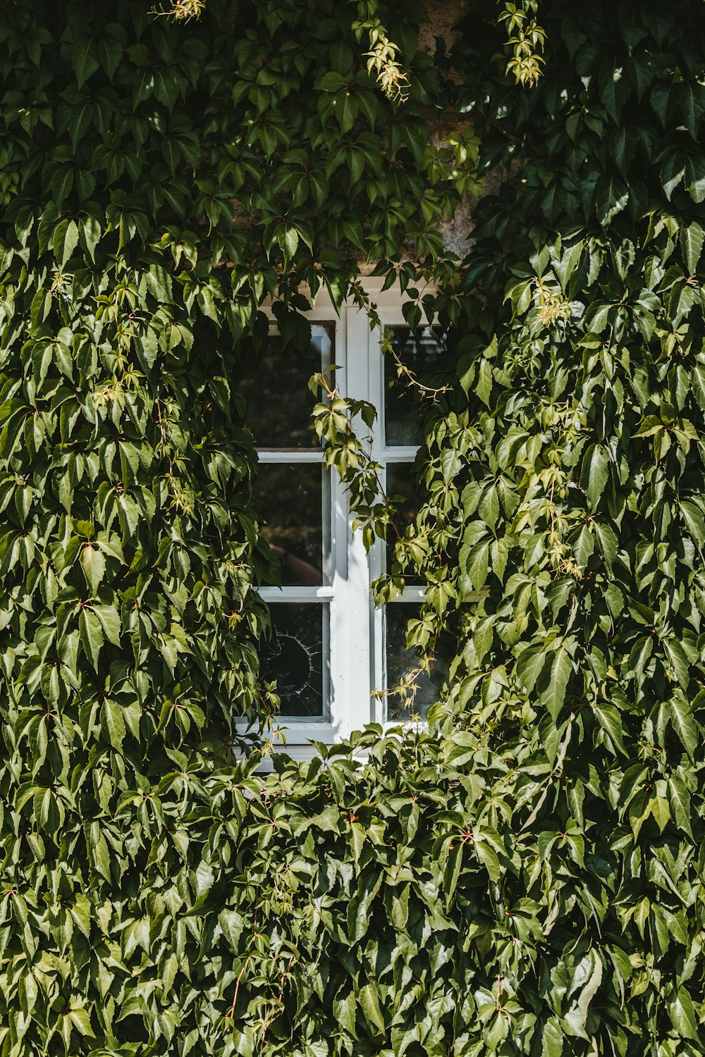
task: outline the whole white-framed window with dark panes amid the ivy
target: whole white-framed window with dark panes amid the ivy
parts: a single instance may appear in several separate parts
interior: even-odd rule
[[[375,302],[402,359],[416,373],[432,371],[439,347],[431,330],[409,330],[398,293],[375,296]],[[374,404],[372,453],[387,495],[404,497],[400,513],[408,522],[414,516],[412,463],[422,440],[419,409],[393,359],[382,355],[382,335],[370,331],[364,312],[347,308],[336,318],[319,297],[310,319],[311,344],[298,355],[282,349],[273,321],[257,371],[241,387],[259,455],[262,531],[281,565],[281,588],[260,589],[273,623],[272,641],[261,651],[262,674],[277,680],[286,750],[300,758],[312,755],[310,739],[332,743],[365,723],[423,718],[444,681],[437,665],[415,681],[412,699],[374,692],[416,668],[406,628],[424,588],[409,585],[398,598],[374,608],[370,582],[392,549],[377,542],[368,555],[360,534],[351,532],[345,486],[327,469],[310,429],[314,398],[308,382],[335,363],[340,391]]]

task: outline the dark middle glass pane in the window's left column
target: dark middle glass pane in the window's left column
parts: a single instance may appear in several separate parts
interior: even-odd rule
[[[330,476],[320,465],[260,463],[255,502],[262,535],[281,565],[281,583],[329,581]]]

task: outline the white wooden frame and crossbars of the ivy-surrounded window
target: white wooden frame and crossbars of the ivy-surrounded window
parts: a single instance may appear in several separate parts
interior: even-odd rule
[[[377,410],[374,425],[368,430],[359,424],[360,435],[371,435],[371,455],[382,467],[382,483],[386,482],[388,463],[412,463],[415,445],[390,446],[385,443],[384,356],[382,337],[385,327],[406,327],[402,305],[406,298],[398,285],[381,292],[382,280],[363,280],[364,289],[374,302],[382,331],[370,329],[367,313],[354,304],[342,305],[339,316],[327,292],[321,291],[314,308],[305,313],[312,323],[324,323],[335,330],[333,358],[337,364],[335,384],[344,396],[369,401]],[[273,326],[274,314],[265,309]],[[285,398],[283,396],[282,398]],[[275,450],[258,448],[259,462],[322,464],[322,448]],[[324,600],[330,614],[330,720],[297,719],[286,722],[282,717],[273,722],[273,729],[262,730],[264,737],[277,729],[285,744],[275,739],[275,748],[285,750],[299,760],[312,759],[316,749],[311,741],[333,744],[367,723],[389,727],[398,724],[384,721],[385,701],[372,698],[373,690],[385,687],[384,607],[374,606],[370,585],[384,571],[385,543],[377,540],[369,554],[363,544],[361,532],[353,533],[354,515],[350,513],[347,489],[335,470],[331,470],[331,580],[328,587],[261,587],[259,594],[267,605]],[[421,602],[423,587],[406,587],[388,605]],[[239,733],[247,729],[244,720],[237,722]]]

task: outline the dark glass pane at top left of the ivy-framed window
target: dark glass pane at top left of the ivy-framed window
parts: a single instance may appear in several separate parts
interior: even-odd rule
[[[309,389],[309,378],[333,363],[333,327],[316,324],[311,344],[300,352],[283,346],[278,334],[270,334],[264,349],[239,389],[245,397],[247,427],[260,448],[310,448],[318,446],[311,429],[311,410],[317,397]]]

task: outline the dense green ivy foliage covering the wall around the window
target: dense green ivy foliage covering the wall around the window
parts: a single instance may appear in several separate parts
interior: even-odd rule
[[[703,1052],[703,5],[544,0],[527,91],[476,13],[462,268],[404,14],[404,103],[355,5],[3,16],[2,1057]],[[459,654],[431,735],[262,778],[238,371],[360,256],[453,324],[377,591]]]

